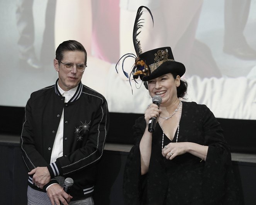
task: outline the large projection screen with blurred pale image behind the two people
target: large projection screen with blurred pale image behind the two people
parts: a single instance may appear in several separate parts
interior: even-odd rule
[[[144,113],[151,98],[115,64],[134,53],[137,8],[147,6],[142,51],[170,46],[186,67],[186,101],[217,118],[256,119],[256,0],[2,0],[0,105],[24,107],[31,92],[53,85],[56,47],[78,40],[88,52],[82,82],[102,93],[109,111]],[[134,59],[125,60],[131,72]],[[132,94],[133,91],[133,94]],[[184,99],[183,99],[184,100]]]

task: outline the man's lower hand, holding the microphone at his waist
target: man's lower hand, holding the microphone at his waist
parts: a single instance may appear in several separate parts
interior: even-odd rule
[[[63,188],[58,184],[53,184],[48,187],[47,195],[52,205],[54,205],[54,202],[56,205],[59,205],[60,202],[63,203],[63,205],[68,205],[68,203],[70,203],[70,199],[73,198],[64,192]]]

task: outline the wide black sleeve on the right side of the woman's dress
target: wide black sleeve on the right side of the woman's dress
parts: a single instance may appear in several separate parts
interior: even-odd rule
[[[223,130],[209,108],[205,106],[202,113],[204,143],[209,146],[203,171],[205,201],[209,204],[214,204],[216,201],[222,201],[224,204],[239,204],[239,191],[232,170],[231,152]]]

